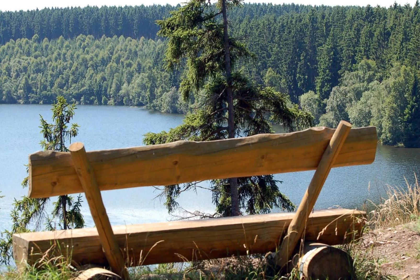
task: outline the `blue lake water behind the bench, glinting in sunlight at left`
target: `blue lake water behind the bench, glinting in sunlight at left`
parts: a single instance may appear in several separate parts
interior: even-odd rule
[[[87,151],[125,148],[142,145],[147,132],[160,132],[181,124],[183,115],[163,114],[144,108],[124,106],[77,106],[74,122],[81,127],[72,141],[81,141]],[[0,104],[0,231],[10,229],[10,211],[14,198],[26,195],[21,187],[26,177],[28,155],[40,150],[39,114],[51,120],[50,105]],[[404,149],[378,145],[373,164],[340,167],[331,170],[315,205],[325,209],[339,205],[359,208],[366,201],[378,201],[385,184],[405,186],[404,176],[414,181],[414,172],[420,174],[420,149]],[[313,171],[277,174],[283,181],[280,190],[291,201],[299,203]],[[370,185],[370,188],[368,186]],[[102,198],[112,225],[162,222],[171,219],[153,187],[108,190]],[[55,199],[53,198],[52,201]],[[211,193],[198,189],[197,193],[183,193],[178,199],[187,210],[212,213]],[[273,209],[278,211],[278,209]],[[89,208],[84,199],[82,212],[86,225],[93,226]]]

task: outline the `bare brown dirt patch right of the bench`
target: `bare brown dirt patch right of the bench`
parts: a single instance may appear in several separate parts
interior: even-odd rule
[[[366,232],[363,246],[377,259],[384,274],[420,280],[419,222]]]

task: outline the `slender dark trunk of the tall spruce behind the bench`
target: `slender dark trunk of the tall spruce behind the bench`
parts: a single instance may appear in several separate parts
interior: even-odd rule
[[[226,63],[226,80],[228,83],[228,137],[235,138],[235,111],[234,111],[234,99],[232,94],[232,81],[231,81],[231,53],[229,45],[229,34],[228,34],[228,16],[226,9],[226,0],[222,1],[222,13],[223,13],[223,35],[225,41],[225,63]],[[232,216],[239,216],[239,196],[238,196],[238,180],[236,178],[230,179],[231,185],[231,203]]]

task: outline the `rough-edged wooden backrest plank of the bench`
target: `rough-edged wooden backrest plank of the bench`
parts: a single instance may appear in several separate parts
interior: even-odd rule
[[[335,129],[315,127],[286,134],[262,134],[208,142],[88,152],[100,190],[316,169]],[[375,127],[352,129],[333,167],[370,164]],[[29,156],[29,197],[83,192],[69,153]]]

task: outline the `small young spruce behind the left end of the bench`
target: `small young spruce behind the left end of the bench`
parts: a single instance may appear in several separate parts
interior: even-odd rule
[[[67,100],[58,96],[57,103],[53,104],[53,123],[50,124],[40,116],[41,133],[44,138],[39,144],[45,150],[50,151],[68,151],[67,142],[71,142],[72,137],[76,137],[79,125],[70,124],[74,116],[74,104],[68,104]],[[28,186],[28,177],[26,177],[22,186]],[[12,253],[12,235],[13,233],[29,232],[41,230],[45,225],[47,230],[55,230],[57,226],[62,229],[81,228],[84,226],[84,219],[81,214],[81,195],[76,199],[70,195],[61,195],[56,202],[53,202],[52,218],[47,215],[47,206],[50,198],[29,198],[22,197],[13,203],[14,209],[11,211],[12,229],[2,232],[0,239],[0,264],[8,264],[13,257]],[[55,223],[58,222],[58,225]]]

